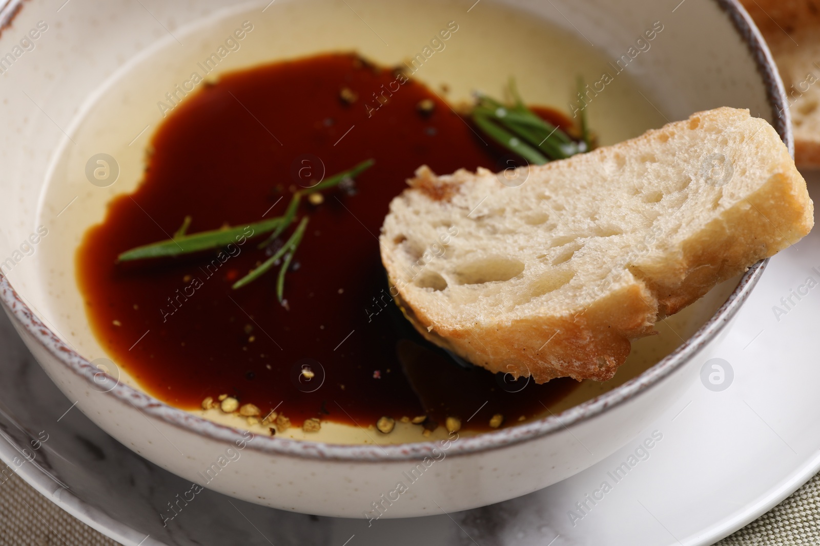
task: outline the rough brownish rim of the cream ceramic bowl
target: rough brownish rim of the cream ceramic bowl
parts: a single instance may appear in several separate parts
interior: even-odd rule
[[[772,107],[774,129],[786,143],[790,154],[794,156],[790,115],[786,102],[786,92],[783,87],[776,65],[763,40],[758,28],[749,17],[749,14],[737,0],[713,0],[724,11],[731,24],[746,43],[749,53],[754,59],[758,74],[763,79],[769,105]],[[15,2],[11,2],[14,4]],[[682,3],[682,2],[681,2]],[[8,7],[8,5],[7,5]],[[0,9],[0,16],[2,16]],[[417,460],[440,453],[439,449],[447,449],[450,456],[481,453],[491,449],[501,449],[519,444],[528,440],[535,440],[544,435],[567,429],[590,420],[612,408],[644,393],[658,384],[663,378],[681,368],[704,345],[712,341],[714,336],[734,317],[740,306],[748,298],[752,288],[757,284],[768,264],[764,259],[752,265],[740,278],[737,287],[731,292],[727,300],[717,312],[704,323],[695,334],[684,341],[671,354],[661,359],[651,368],[633,377],[621,386],[617,386],[603,395],[587,400],[581,404],[568,408],[562,413],[551,414],[521,426],[511,426],[499,431],[485,432],[479,435],[458,438],[457,442],[435,440],[414,442],[410,444],[330,444],[311,440],[291,440],[280,436],[253,435],[253,442],[248,442],[248,431],[233,426],[225,426],[198,417],[194,413],[165,404],[131,386],[118,381],[107,374],[107,381],[116,381],[115,386],[104,391],[98,390],[101,372],[87,359],[77,354],[71,346],[62,341],[52,330],[44,324],[30,309],[19,294],[11,287],[7,277],[0,273],[0,302],[16,323],[19,331],[25,332],[43,345],[53,357],[77,375],[84,377],[94,390],[102,395],[111,395],[123,404],[130,404],[144,417],[155,417],[182,430],[206,436],[212,440],[222,442],[247,442],[247,446],[262,453],[275,453],[296,458],[332,460],[342,462],[392,462]],[[152,423],[153,424],[153,423]],[[449,445],[444,448],[444,443]]]

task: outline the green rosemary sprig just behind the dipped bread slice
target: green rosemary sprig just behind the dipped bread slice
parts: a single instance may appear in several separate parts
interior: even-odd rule
[[[512,79],[508,91],[512,97],[508,104],[476,93],[472,119],[488,137],[536,165],[589,150],[585,142],[573,141],[563,130],[527,108]]]

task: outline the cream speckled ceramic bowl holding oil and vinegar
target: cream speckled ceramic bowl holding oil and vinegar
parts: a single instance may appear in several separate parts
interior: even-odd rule
[[[406,29],[435,32],[440,17],[452,16],[463,21],[465,44],[479,49],[453,46],[452,59],[426,77],[458,78],[454,67],[478,61],[499,71],[512,52],[493,57],[488,50],[481,57],[488,40],[470,30],[481,29],[473,21],[487,20],[481,10],[491,12],[499,28],[510,20],[528,20],[542,25],[541,34],[554,29],[567,43],[569,37],[588,43],[598,59],[612,61],[601,65],[602,71],[619,70],[619,60],[628,64],[622,78],[630,79],[637,95],[614,87],[610,94],[601,93],[603,102],[624,95],[618,99],[622,108],[608,110],[616,117],[599,114],[600,126],[613,128],[602,130],[604,142],[634,136],[618,131],[649,123],[641,120],[681,120],[694,111],[736,106],[770,121],[792,146],[785,95],[768,49],[745,11],[728,0],[480,0],[389,7],[364,0],[230,7],[218,0],[66,2],[62,7],[43,0],[7,2],[0,17],[5,25],[0,55],[11,55],[0,57],[0,261],[5,273],[0,300],[35,358],[76,407],[134,452],[196,486],[274,508],[366,518],[451,512],[539,490],[613,453],[667,408],[688,386],[681,377],[702,364],[699,350],[716,341],[764,264],[693,306],[681,326],[685,341],[628,381],[561,413],[446,442],[339,444],[253,435],[163,404],[119,370],[101,371],[92,363],[96,349],[84,314],[77,311],[81,298],[73,278],[72,237],[97,221],[111,196],[139,183],[135,173],[145,142],[140,138],[159,116],[156,96],[146,98],[145,89],[165,88],[185,69],[180,59],[209,51],[215,43],[211,38],[221,38],[243,20],[253,20],[265,47],[248,47],[246,57],[231,57],[227,64],[233,68],[265,56],[275,60],[339,48],[396,62],[412,54],[407,44],[416,38]],[[645,38],[649,29],[656,30],[651,47]],[[522,31],[521,39],[546,39],[535,30]],[[517,34],[506,35],[513,46],[520,45]],[[551,58],[556,65],[568,63],[556,52]],[[548,78],[539,70],[529,70],[526,84],[538,89],[543,79]],[[124,91],[120,84],[128,81],[145,89],[134,83]],[[549,90],[536,95],[553,98]],[[640,123],[629,125],[627,118]],[[118,130],[129,135],[121,144],[107,136]],[[100,139],[111,141],[122,158],[119,185],[83,182],[84,158],[101,151],[93,147]],[[40,226],[48,236],[33,237]]]

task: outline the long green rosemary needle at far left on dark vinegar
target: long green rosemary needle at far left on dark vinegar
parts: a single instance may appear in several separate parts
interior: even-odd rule
[[[117,259],[121,262],[132,259],[161,258],[163,256],[178,256],[191,254],[200,250],[219,248],[236,242],[237,237],[256,237],[279,227],[281,218],[271,218],[262,222],[248,223],[245,226],[236,226],[227,229],[212,229],[207,232],[198,232],[193,235],[182,235],[165,241],[158,241],[150,245],[137,246],[125,250]],[[183,224],[185,227],[185,224]],[[181,229],[181,228],[180,228]],[[248,233],[250,231],[250,233]],[[179,230],[177,231],[179,233]]]

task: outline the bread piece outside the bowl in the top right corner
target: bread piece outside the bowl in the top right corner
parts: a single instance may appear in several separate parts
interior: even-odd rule
[[[777,63],[795,133],[795,163],[820,167],[820,1],[741,0]]]

